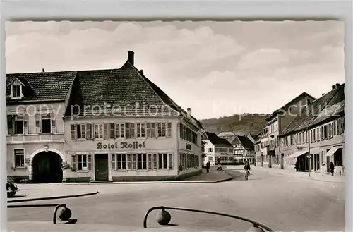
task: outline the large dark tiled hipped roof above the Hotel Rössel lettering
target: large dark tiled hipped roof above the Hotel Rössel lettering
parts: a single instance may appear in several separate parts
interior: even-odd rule
[[[181,109],[165,92],[143,75],[142,71],[126,61],[121,68],[106,70],[77,71],[70,102],[65,116],[71,116],[71,106],[78,105],[80,114],[75,117],[161,117],[184,116]],[[102,109],[107,105],[107,113]],[[110,105],[110,106],[108,106]],[[191,121],[202,128],[201,123],[191,116]]]

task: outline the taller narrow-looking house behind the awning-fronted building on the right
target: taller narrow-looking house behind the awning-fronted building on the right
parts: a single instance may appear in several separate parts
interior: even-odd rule
[[[267,149],[267,154],[262,164],[270,168],[283,169],[284,157],[280,151],[278,135],[294,120],[298,112],[313,100],[314,97],[303,92],[266,118],[268,123],[264,136],[268,139],[265,140],[266,145],[263,145],[262,149]]]

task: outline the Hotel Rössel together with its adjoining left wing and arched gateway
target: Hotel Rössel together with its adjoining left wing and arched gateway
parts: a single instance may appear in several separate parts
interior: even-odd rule
[[[181,179],[201,172],[201,123],[142,70],[6,74],[7,173],[35,183]]]

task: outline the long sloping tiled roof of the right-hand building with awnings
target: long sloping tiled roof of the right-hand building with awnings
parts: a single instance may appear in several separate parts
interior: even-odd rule
[[[280,137],[306,129],[325,107],[338,103],[344,97],[345,84],[331,90],[322,97],[309,104],[309,108],[304,107],[291,123],[280,133]]]

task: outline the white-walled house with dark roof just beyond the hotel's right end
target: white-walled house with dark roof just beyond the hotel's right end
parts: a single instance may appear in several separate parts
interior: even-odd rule
[[[204,165],[210,162],[211,165],[233,164],[233,146],[226,139],[218,137],[215,133],[205,131],[203,133]]]

